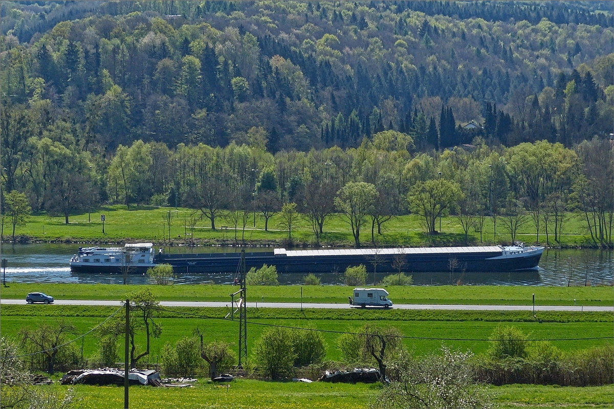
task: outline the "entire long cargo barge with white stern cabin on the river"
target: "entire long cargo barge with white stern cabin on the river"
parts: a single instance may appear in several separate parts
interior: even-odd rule
[[[508,272],[537,269],[543,247],[403,247],[246,252],[246,269],[264,264],[279,273],[343,273],[364,264],[369,271],[397,272]],[[241,253],[155,253],[152,243],[126,244],[124,248],[79,248],[71,259],[72,272],[144,273],[156,264],[170,264],[176,273],[233,273]]]

